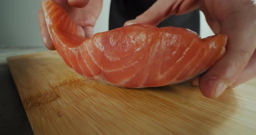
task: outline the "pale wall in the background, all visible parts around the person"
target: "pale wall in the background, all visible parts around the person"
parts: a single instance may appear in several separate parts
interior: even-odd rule
[[[103,9],[94,32],[108,30],[111,0],[103,0]],[[44,47],[37,21],[41,0],[3,0],[0,4],[0,48]],[[204,16],[201,15],[201,36],[213,35]]]

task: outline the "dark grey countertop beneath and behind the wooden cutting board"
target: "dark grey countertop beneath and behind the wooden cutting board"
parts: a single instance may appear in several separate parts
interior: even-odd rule
[[[6,58],[45,50],[0,49],[0,135],[33,135]]]

